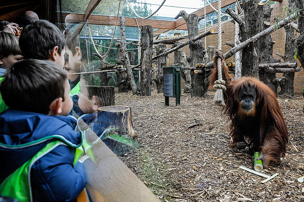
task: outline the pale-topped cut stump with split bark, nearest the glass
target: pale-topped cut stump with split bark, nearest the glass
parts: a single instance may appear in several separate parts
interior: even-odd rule
[[[105,112],[107,117],[109,117],[108,119],[100,120],[105,123],[105,125],[113,125],[122,130],[123,133],[129,134],[130,137],[135,138],[130,107],[119,105],[105,106],[98,108],[98,111]]]

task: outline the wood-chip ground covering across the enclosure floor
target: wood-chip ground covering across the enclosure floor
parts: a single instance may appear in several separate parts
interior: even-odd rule
[[[230,147],[230,121],[220,107],[207,98],[181,97],[181,105],[164,106],[163,94],[133,96],[115,94],[116,105],[132,108],[133,127],[139,132],[138,152],[120,159],[162,201],[304,201],[303,97],[278,98],[290,143],[279,164],[262,172],[279,173],[265,178],[239,169],[253,169],[247,150]],[[202,124],[188,128],[195,119]],[[136,191],[136,187],[134,187]]]

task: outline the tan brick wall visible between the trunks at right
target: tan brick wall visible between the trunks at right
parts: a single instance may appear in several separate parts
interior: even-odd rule
[[[271,20],[271,25],[274,24],[274,18],[276,16],[282,16],[284,12],[284,8],[288,6],[288,0],[284,0],[283,2],[278,2],[273,5],[271,5],[272,14],[270,17]],[[212,25],[207,27],[207,30],[213,29],[215,32],[217,31],[217,24]],[[199,30],[199,31],[204,31],[204,30]],[[230,46],[226,45],[226,41],[233,42],[234,43],[234,36],[235,36],[235,25],[231,22],[231,20],[226,20],[222,24],[222,31],[225,33],[222,33],[222,51],[226,53],[227,51],[230,50]],[[201,32],[203,33],[203,32]],[[281,28],[278,29],[277,31],[273,32],[271,34],[272,40],[275,41],[275,44],[273,46],[273,56],[279,57],[278,55],[275,55],[275,52],[281,53],[284,55],[284,49],[285,49],[285,29]],[[187,39],[181,40],[181,42],[185,42]],[[215,46],[217,48],[217,35],[209,35],[207,36],[207,47],[208,46]],[[167,47],[171,47],[171,45],[167,45]],[[185,46],[181,48],[180,50],[186,50],[186,55],[190,55],[190,50],[189,46]],[[171,53],[168,55],[169,59],[167,59],[167,65],[169,66],[170,64],[173,65],[174,63],[174,53]],[[280,58],[281,59],[281,58]],[[226,62],[229,61],[234,61],[234,56],[230,57],[229,59],[226,59]],[[283,62],[283,60],[281,59]],[[298,62],[299,63],[299,62]],[[300,65],[299,65],[300,66]],[[282,77],[282,73],[277,73],[277,77]],[[302,94],[302,89],[304,87],[303,83],[304,79],[304,72],[301,70],[300,72],[295,72],[295,77],[294,77],[294,92],[295,93],[301,93]],[[280,88],[278,89],[280,91]]]

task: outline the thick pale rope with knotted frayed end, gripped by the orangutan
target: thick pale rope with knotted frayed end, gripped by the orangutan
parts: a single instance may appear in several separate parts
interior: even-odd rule
[[[217,47],[222,48],[222,29],[221,29],[221,0],[217,0]],[[213,102],[219,106],[225,106],[223,90],[226,90],[225,81],[222,79],[221,58],[217,59],[217,76],[218,80],[215,81],[214,88],[217,88],[215,92]]]

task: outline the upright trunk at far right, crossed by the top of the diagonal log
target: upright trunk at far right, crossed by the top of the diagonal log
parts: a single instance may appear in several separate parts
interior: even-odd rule
[[[295,10],[295,0],[288,1],[288,10]],[[295,63],[294,59],[294,50],[296,50],[296,39],[294,36],[294,29],[291,26],[284,26],[286,32],[286,40],[285,40],[285,54],[284,54],[284,62]],[[286,70],[285,70],[286,71]],[[283,74],[282,79],[279,81],[279,85],[281,87],[280,95],[289,94],[293,96],[293,81],[294,81],[294,72],[286,72]]]

